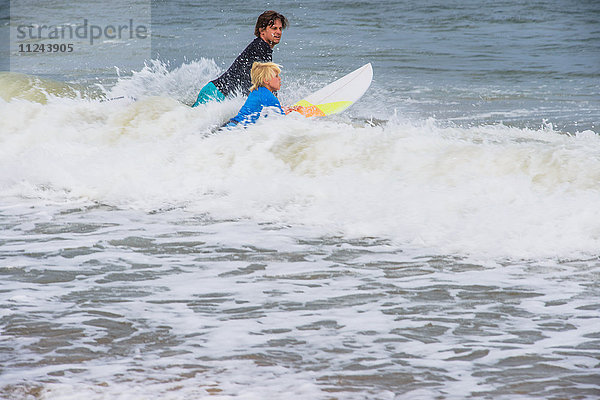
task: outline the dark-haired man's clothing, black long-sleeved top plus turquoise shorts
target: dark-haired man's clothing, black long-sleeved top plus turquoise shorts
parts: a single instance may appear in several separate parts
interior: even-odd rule
[[[242,93],[247,95],[252,82],[250,69],[255,61],[270,62],[273,60],[273,49],[261,38],[254,39],[235,59],[231,67],[217,79],[209,82],[198,94],[198,99],[192,107],[207,103],[211,100],[223,101],[230,94]]]

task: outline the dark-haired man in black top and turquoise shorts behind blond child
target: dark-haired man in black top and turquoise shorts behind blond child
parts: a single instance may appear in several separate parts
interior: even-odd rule
[[[283,30],[287,27],[287,19],[276,11],[265,11],[256,20],[252,41],[235,59],[231,67],[217,79],[207,83],[192,107],[211,100],[223,101],[229,95],[242,93],[247,95],[252,85],[250,69],[254,62],[271,62],[273,47],[281,41]]]

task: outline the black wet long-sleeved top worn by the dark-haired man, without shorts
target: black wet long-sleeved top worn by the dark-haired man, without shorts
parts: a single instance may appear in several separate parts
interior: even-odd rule
[[[212,83],[225,96],[241,93],[248,95],[252,82],[250,69],[255,61],[270,62],[273,60],[273,49],[261,38],[256,38],[235,59],[231,67]]]

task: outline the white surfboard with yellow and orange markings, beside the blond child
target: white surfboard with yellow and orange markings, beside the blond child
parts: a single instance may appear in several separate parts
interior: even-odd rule
[[[306,117],[337,114],[360,99],[372,80],[373,67],[368,63],[294,105],[304,107],[299,112]]]

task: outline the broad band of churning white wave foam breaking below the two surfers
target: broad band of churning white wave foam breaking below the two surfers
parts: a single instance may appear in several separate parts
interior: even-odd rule
[[[172,72],[156,64],[113,89],[138,101],[0,103],[2,196],[185,206],[446,254],[597,253],[594,132],[290,115],[213,133],[242,99],[190,108],[166,95],[198,71],[201,86],[217,69],[206,60]]]

